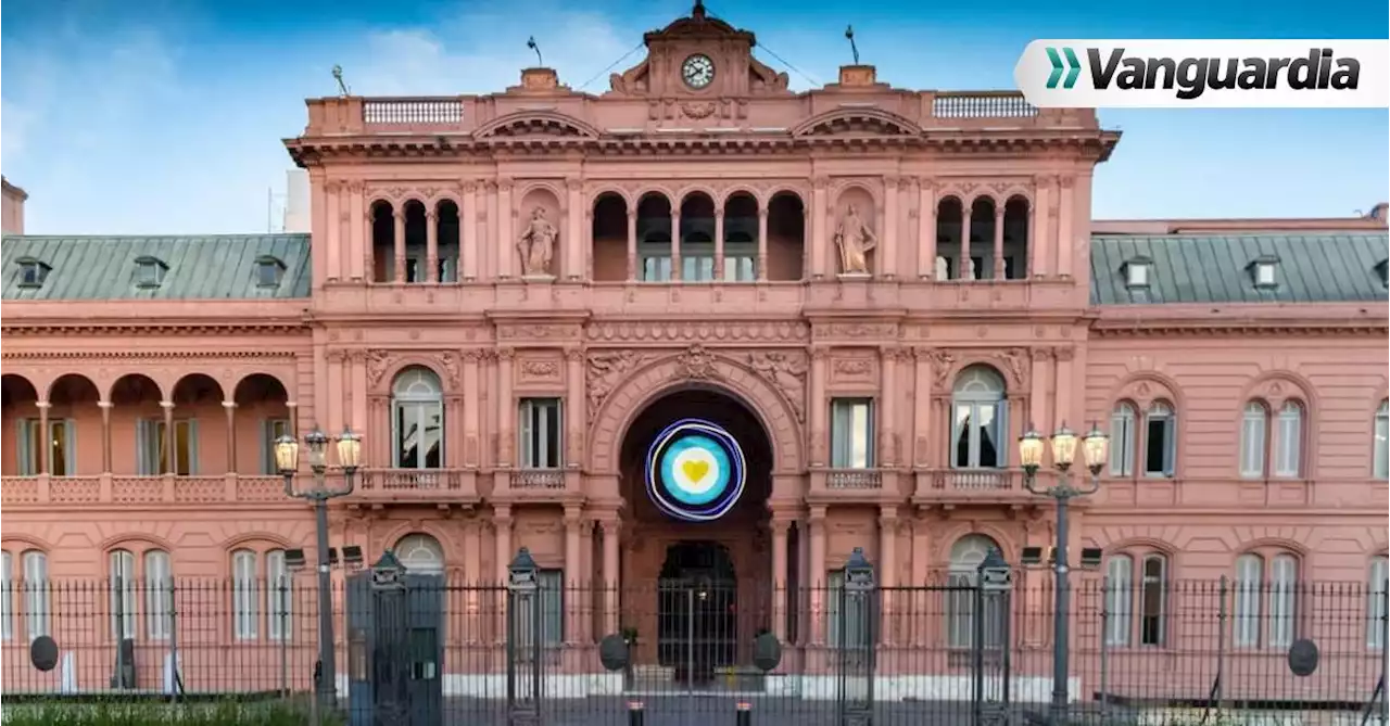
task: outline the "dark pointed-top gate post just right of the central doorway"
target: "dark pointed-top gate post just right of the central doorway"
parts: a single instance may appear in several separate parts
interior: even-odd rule
[[[844,589],[840,593],[838,701],[841,726],[873,723],[873,679],[877,637],[877,589],[873,565],[865,551],[855,547],[845,562]],[[834,597],[835,593],[831,593]]]

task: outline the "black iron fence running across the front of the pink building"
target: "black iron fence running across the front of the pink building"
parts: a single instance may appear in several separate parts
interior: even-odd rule
[[[334,587],[338,707],[352,723],[470,726],[630,723],[638,704],[656,725],[1044,714],[1056,691],[1051,576],[981,575],[613,591],[543,577],[381,583],[361,572]],[[1387,586],[1086,577],[1072,587],[1061,647],[1077,719],[1390,723],[1377,720],[1390,714]],[[311,575],[0,583],[0,695],[303,695],[318,661],[317,600]]]

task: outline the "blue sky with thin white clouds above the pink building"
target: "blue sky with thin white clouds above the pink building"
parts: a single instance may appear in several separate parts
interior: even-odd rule
[[[1332,6],[1336,6],[1334,8]],[[14,8],[19,11],[15,12]],[[1037,37],[1387,37],[1390,3],[830,3],[712,0],[758,33],[794,87],[865,62],[901,87],[1012,87]],[[1322,11],[1326,8],[1327,11]],[[281,139],[303,99],[486,93],[534,62],[584,90],[687,0],[0,0],[0,174],[31,193],[31,233],[224,233],[267,226]],[[614,71],[641,58],[635,50]],[[1125,132],[1097,218],[1348,217],[1390,199],[1390,110],[1102,111]]]

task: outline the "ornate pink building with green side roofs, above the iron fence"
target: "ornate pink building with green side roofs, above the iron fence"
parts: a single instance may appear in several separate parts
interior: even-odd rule
[[[307,236],[8,222],[0,582],[284,572],[314,530],[270,441],[316,423],[364,439],[335,547],[460,582],[527,547],[607,589],[567,641],[641,629],[657,605],[630,589],[681,561],[795,590],[858,547],[913,586],[1048,547],[1030,423],[1111,434],[1070,532],[1116,577],[1365,583],[1383,562],[1384,207],[1093,222],[1119,133],[1091,111],[867,65],[794,93],[699,6],[646,46],[600,94],[528,68],[489,96],[310,100],[285,142]],[[0,183],[0,222],[22,201]],[[646,491],[653,439],[688,418],[746,455],[713,521]],[[15,598],[0,633],[21,640]],[[824,608],[769,600],[783,636]]]

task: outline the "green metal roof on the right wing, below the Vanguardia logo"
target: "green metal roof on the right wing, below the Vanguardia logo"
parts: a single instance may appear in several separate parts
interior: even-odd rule
[[[1148,286],[1126,285],[1126,264],[1148,258]],[[1277,260],[1276,285],[1257,287],[1251,265]],[[1097,235],[1091,304],[1386,303],[1390,233]]]

